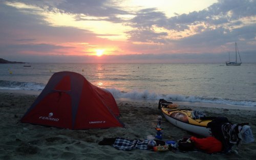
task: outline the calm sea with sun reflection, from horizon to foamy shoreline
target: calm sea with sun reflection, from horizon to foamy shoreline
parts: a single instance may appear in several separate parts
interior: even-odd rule
[[[28,65],[28,64],[26,64]],[[39,90],[60,71],[83,75],[116,99],[256,106],[256,63],[0,64],[0,89]]]

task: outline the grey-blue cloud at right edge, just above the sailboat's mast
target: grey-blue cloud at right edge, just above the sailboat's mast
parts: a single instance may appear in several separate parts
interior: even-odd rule
[[[223,52],[223,49],[220,51],[217,47],[220,47],[221,45],[226,45],[227,47],[230,47],[230,45],[234,46],[234,42],[240,41],[240,39],[246,39],[246,41],[242,40],[239,42],[241,47],[244,46],[244,50],[255,49],[253,45],[250,45],[249,47],[246,44],[247,41],[255,41],[255,28],[256,24],[233,29],[232,31],[222,27],[215,30],[208,29],[202,33],[174,40],[172,42],[180,48],[185,44],[187,50],[191,51],[196,51],[195,49],[198,49],[198,52],[200,52],[200,50],[205,51],[208,48],[209,51]]]

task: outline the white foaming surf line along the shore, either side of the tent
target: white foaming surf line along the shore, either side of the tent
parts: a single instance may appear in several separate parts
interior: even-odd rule
[[[32,82],[17,82],[0,80],[0,89],[16,89],[16,90],[36,90],[40,91],[45,88],[45,84],[32,83]],[[231,99],[220,98],[205,98],[200,96],[184,96],[177,94],[157,94],[148,92],[148,90],[131,90],[129,92],[123,92],[116,88],[105,88],[116,99],[131,99],[131,100],[150,100],[158,101],[159,99],[165,99],[168,101],[183,101],[183,102],[204,102],[204,103],[218,103],[227,105],[240,105],[240,106],[256,106],[256,101],[237,101]]]

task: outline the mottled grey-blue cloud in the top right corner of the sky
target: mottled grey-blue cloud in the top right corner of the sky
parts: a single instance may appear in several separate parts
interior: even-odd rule
[[[165,26],[167,29],[177,29],[177,25],[194,25],[199,22],[205,22],[209,25],[223,25],[231,20],[239,20],[240,18],[247,16],[255,16],[256,10],[255,1],[240,1],[240,0],[228,0],[219,1],[207,9],[198,12],[191,12],[189,14],[177,15],[168,19],[168,24]],[[170,26],[170,27],[168,27]],[[184,29],[184,28],[182,28]]]

